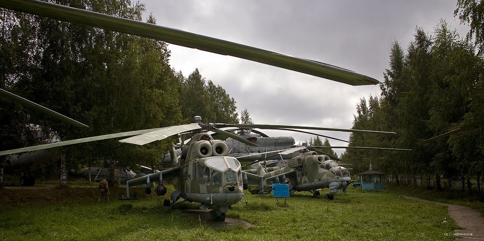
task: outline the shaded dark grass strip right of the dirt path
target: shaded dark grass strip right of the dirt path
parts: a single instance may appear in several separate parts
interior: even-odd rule
[[[385,188],[395,194],[471,207],[484,216],[484,193],[474,192],[474,195],[469,195],[462,191],[437,191],[436,189],[429,190],[424,186],[392,185],[390,183],[385,183]]]

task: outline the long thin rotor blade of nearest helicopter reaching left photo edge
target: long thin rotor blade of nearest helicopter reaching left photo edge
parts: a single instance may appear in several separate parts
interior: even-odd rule
[[[0,155],[8,155],[8,154],[14,154],[14,153],[38,151],[38,150],[44,150],[44,149],[49,149],[49,148],[53,148],[53,147],[62,147],[62,146],[91,142],[91,141],[99,141],[99,140],[112,139],[112,138],[118,138],[118,137],[124,137],[124,136],[139,135],[139,134],[142,134],[142,133],[156,131],[156,130],[160,130],[160,129],[162,129],[162,128],[139,130],[139,131],[119,132],[119,133],[91,136],[91,137],[68,140],[68,141],[60,141],[60,142],[49,143],[49,144],[44,144],[44,145],[37,145],[37,146],[1,151]]]

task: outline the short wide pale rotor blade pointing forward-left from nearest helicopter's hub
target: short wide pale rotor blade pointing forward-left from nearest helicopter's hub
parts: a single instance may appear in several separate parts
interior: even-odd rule
[[[163,127],[156,131],[150,131],[136,136],[128,137],[126,139],[119,140],[119,142],[131,143],[136,145],[145,145],[150,142],[163,140],[172,135],[183,133],[185,131],[193,131],[201,129],[197,123],[191,123],[188,125]]]

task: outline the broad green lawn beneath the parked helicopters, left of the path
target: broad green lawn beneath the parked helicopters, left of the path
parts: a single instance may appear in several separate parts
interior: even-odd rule
[[[332,201],[324,199],[327,192],[316,198],[296,193],[281,206],[271,195],[246,193],[249,203],[239,202],[226,216],[255,225],[245,229],[212,228],[165,208],[162,200],[168,194],[145,196],[138,189],[138,200],[114,199],[121,190],[112,189],[110,203],[99,205],[94,188],[39,191],[53,192],[57,201],[32,191],[0,190],[0,196],[8,197],[0,198],[0,240],[454,240],[445,233],[459,228],[447,207],[388,191],[350,189]],[[26,199],[29,195],[42,200]],[[179,208],[198,207],[188,203]]]

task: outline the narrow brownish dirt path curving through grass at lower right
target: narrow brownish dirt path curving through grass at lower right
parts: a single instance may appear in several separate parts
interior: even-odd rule
[[[440,205],[445,205],[449,209],[449,215],[456,220],[457,225],[464,227],[465,229],[454,230],[459,235],[461,241],[484,241],[484,218],[481,214],[473,208],[464,207],[454,204],[440,203],[429,200],[420,199],[417,197],[407,197],[407,199],[430,202]],[[472,235],[470,235],[472,234]],[[452,234],[454,235],[454,234]]]

